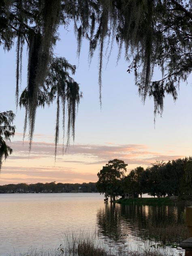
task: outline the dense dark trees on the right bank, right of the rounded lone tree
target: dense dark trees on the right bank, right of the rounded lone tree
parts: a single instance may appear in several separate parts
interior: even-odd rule
[[[143,169],[141,166],[123,177],[121,186],[129,197],[142,197],[143,193],[151,196],[179,196],[181,199],[192,199],[192,158],[168,161],[157,161]],[[125,201],[128,199],[124,199]]]

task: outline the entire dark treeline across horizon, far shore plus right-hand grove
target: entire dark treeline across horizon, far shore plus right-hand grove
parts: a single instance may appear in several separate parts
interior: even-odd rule
[[[157,161],[144,169],[139,166],[126,176],[127,164],[122,160],[110,160],[98,173],[98,182],[89,183],[36,183],[8,184],[0,186],[0,193],[68,193],[100,192],[115,201],[116,196],[137,198],[151,196],[179,196],[192,199],[192,157]]]

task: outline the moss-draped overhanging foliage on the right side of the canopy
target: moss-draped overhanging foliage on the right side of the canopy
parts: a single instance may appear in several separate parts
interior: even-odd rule
[[[99,45],[100,87],[105,42],[109,58],[116,40],[117,61],[124,45],[125,58],[130,61],[127,71],[134,71],[140,96],[143,101],[153,97],[154,114],[161,114],[165,94],[176,100],[180,81],[186,81],[192,70],[191,0],[85,0],[81,6],[72,2],[78,53],[83,36],[90,41],[90,59]],[[162,79],[153,81],[156,66]]]

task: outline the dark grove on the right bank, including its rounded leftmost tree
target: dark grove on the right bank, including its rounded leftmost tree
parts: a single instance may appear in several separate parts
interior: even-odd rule
[[[110,160],[98,173],[96,187],[99,192],[115,201],[116,196],[137,198],[142,194],[178,196],[192,199],[192,157],[156,163],[144,169],[139,166],[126,176],[122,160]]]

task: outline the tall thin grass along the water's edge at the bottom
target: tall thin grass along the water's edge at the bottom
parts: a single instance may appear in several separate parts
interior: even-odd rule
[[[139,247],[137,250],[132,250],[129,246],[109,249],[98,239],[96,232],[92,234],[71,232],[63,236],[62,243],[54,250],[44,248],[29,250],[27,253],[20,253],[19,256],[175,256],[171,248],[162,250],[149,245]]]

